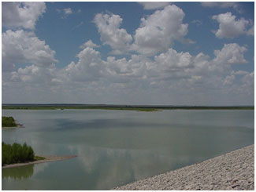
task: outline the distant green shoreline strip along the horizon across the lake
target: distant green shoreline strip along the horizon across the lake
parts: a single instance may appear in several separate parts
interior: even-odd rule
[[[105,105],[105,104],[2,104],[3,110],[254,110],[254,106],[163,106],[163,105]]]

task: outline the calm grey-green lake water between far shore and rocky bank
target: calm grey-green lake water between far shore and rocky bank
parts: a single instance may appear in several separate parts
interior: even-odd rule
[[[77,158],[2,170],[2,190],[108,190],[254,143],[254,110],[2,110],[2,141]]]

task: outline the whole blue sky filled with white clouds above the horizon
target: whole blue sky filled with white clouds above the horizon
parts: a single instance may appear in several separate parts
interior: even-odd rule
[[[254,105],[254,2],[2,2],[2,103]]]

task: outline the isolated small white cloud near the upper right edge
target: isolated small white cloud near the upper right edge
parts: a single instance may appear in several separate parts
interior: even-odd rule
[[[254,27],[247,31],[247,26],[250,22],[243,18],[236,20],[236,16],[232,15],[232,13],[228,12],[213,16],[213,20],[217,20],[220,24],[219,29],[215,32],[217,38],[236,38],[242,34],[254,35]]]

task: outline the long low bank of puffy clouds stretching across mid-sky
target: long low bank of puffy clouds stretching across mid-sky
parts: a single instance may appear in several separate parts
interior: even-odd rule
[[[116,59],[113,56],[102,60],[98,51],[91,47],[85,47],[77,55],[78,62],[72,61],[67,67],[56,71],[52,82],[104,82],[106,86],[113,83],[127,86],[128,83],[132,83],[132,86],[136,87],[142,83],[144,86],[163,85],[163,82],[173,79],[176,84],[184,83],[186,85],[189,82],[190,85],[194,85],[194,83],[200,82],[207,86],[213,86],[214,79],[220,78],[221,80],[224,75],[240,74],[243,76],[247,74],[243,71],[237,71],[236,74],[232,71],[231,65],[247,62],[243,58],[244,51],[246,48],[243,46],[227,44],[221,50],[214,51],[215,58],[213,60],[203,53],[192,56],[190,53],[179,53],[174,49],[168,49],[165,53],[154,56],[153,59],[143,55],[132,55],[129,60],[126,58]],[[28,79],[31,81],[28,74],[35,74],[32,73],[32,69],[38,71],[38,68],[37,66],[26,67],[23,71],[19,70],[18,73],[13,73],[12,78],[13,80]],[[46,71],[43,72],[46,74]],[[24,76],[17,78],[17,74],[19,77],[20,75]],[[224,81],[224,79],[222,80]],[[227,78],[224,85],[228,85],[231,80],[231,77]]]

